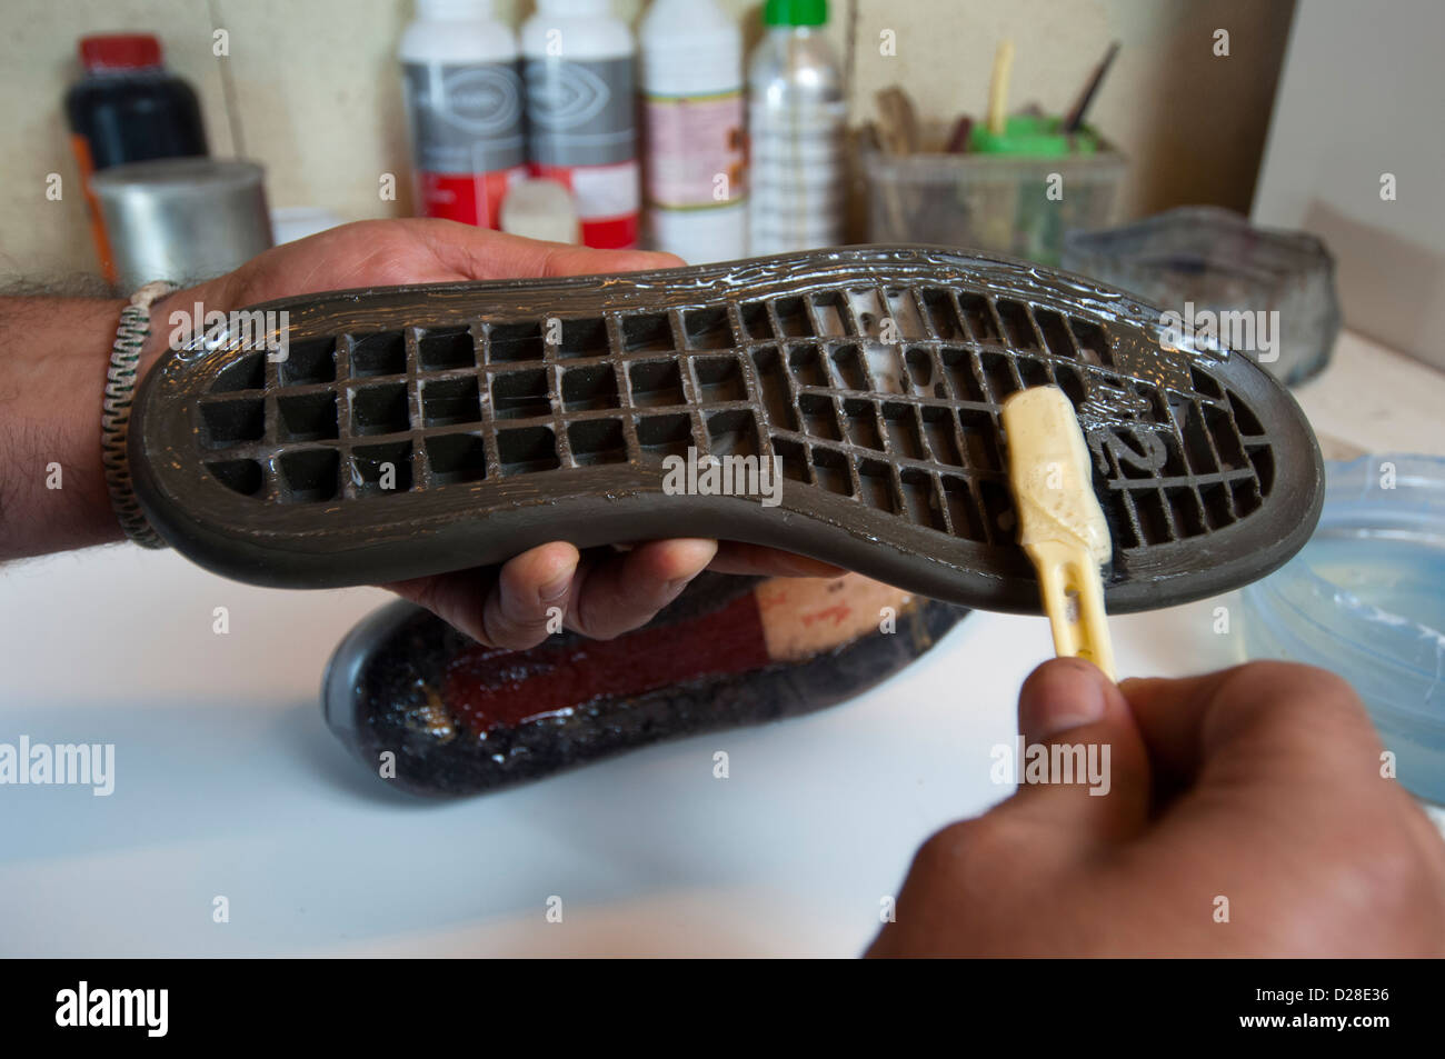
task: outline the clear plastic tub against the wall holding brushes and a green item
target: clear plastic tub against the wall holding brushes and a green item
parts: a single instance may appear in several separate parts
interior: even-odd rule
[[[939,143],[941,130],[926,142]],[[933,243],[1058,264],[1069,231],[1108,227],[1129,160],[1092,155],[884,155],[864,146],[870,243]],[[1051,196],[1051,179],[1061,194]]]

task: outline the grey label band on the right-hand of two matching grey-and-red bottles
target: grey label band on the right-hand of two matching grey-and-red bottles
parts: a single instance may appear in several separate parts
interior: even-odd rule
[[[533,165],[607,166],[637,157],[631,58],[527,59]]]

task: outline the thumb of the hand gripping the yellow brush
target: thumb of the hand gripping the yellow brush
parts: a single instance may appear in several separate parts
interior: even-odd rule
[[[1019,693],[1019,790],[990,818],[1035,831],[1040,852],[1065,857],[1143,829],[1149,758],[1129,704],[1094,665],[1053,659],[1035,669]]]

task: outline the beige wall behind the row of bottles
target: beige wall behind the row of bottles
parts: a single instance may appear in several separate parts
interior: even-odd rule
[[[756,35],[757,0],[722,0]],[[516,23],[530,0],[499,0]],[[1012,101],[1064,110],[1111,39],[1123,42],[1091,118],[1134,160],[1126,215],[1181,202],[1250,205],[1292,0],[835,0],[844,49],[855,10],[854,117],[905,85],[926,117],[980,113],[993,49],[1016,43]],[[634,19],[642,0],[617,0]],[[238,146],[267,168],[275,207],[329,207],[347,218],[403,212],[406,143],[394,51],[410,0],[10,0],[0,38],[0,273],[92,267],[61,100],[88,32],[158,32],[173,71],[199,92],[211,149]],[[230,56],[211,53],[212,32]],[[1228,29],[1230,58],[1212,55]],[[897,55],[880,55],[890,29]],[[227,105],[227,92],[231,105]],[[49,202],[46,175],[65,196]],[[383,202],[396,172],[402,199]]]

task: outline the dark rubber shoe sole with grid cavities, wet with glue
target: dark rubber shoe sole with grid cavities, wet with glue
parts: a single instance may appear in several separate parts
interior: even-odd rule
[[[1094,458],[1116,613],[1269,574],[1322,503],[1309,425],[1254,361],[1172,348],[1159,311],[1017,261],[858,247],[267,311],[289,315],[283,361],[234,321],[168,354],[129,442],[162,537],[260,585],[701,536],[1036,614],[998,407],[1048,383]],[[675,494],[689,454],[760,474],[776,457],[780,503],[756,475]]]

